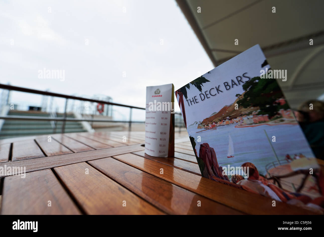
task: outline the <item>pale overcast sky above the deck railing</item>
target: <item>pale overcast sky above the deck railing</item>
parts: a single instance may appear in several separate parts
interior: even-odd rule
[[[144,108],[146,86],[178,89],[213,69],[173,0],[1,1],[0,29],[0,82],[15,86]],[[65,80],[39,79],[44,67]]]

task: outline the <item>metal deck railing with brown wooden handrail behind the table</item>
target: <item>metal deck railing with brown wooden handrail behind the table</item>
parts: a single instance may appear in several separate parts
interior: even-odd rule
[[[145,110],[145,108],[141,108],[141,107],[118,104],[118,103],[112,103],[112,102],[107,102],[107,101],[104,101],[104,100],[83,98],[83,97],[77,97],[77,96],[69,96],[69,95],[53,93],[53,92],[49,92],[49,91],[41,91],[41,90],[35,90],[35,89],[29,89],[29,88],[23,88],[23,87],[16,87],[16,86],[11,86],[11,85],[6,85],[6,84],[0,84],[0,88],[1,89],[6,89],[6,90],[9,90],[9,91],[13,90],[13,91],[21,91],[21,92],[27,92],[27,93],[33,93],[33,94],[39,94],[39,95],[45,95],[45,96],[65,98],[65,106],[64,106],[64,116],[63,116],[63,118],[62,117],[53,117],[53,116],[52,117],[41,117],[41,116],[16,116],[16,115],[1,116],[0,115],[0,119],[63,121],[62,133],[64,133],[66,121],[76,121],[76,122],[82,122],[82,121],[85,121],[85,122],[114,122],[114,123],[127,122],[127,123],[129,123],[129,131],[131,131],[132,123],[145,123],[145,121],[132,121],[132,109],[134,108],[134,109]],[[95,103],[100,103],[100,104],[115,105],[115,106],[130,108],[129,120],[128,121],[120,121],[120,120],[111,120],[111,119],[67,118],[66,109],[67,109],[67,101],[68,101],[68,99],[89,101],[89,102],[95,102]],[[176,113],[176,114],[181,115],[181,113]],[[181,127],[182,126],[181,126],[181,123],[180,123],[179,124],[179,129]]]

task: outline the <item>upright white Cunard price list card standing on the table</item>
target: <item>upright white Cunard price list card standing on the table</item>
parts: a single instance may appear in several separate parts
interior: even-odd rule
[[[146,87],[145,153],[174,156],[174,86]]]

